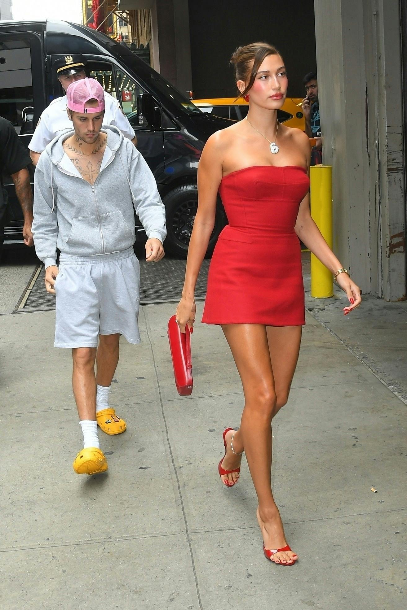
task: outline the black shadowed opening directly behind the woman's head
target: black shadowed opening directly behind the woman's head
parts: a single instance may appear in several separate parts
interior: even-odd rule
[[[288,95],[305,95],[303,77],[317,65],[314,0],[189,0],[189,28],[196,98],[235,95],[230,56],[256,41],[271,43],[284,57]]]

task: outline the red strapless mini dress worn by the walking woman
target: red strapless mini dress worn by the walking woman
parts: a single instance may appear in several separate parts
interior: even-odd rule
[[[208,273],[205,324],[305,324],[301,245],[294,231],[309,178],[297,165],[257,165],[222,178],[229,224]]]

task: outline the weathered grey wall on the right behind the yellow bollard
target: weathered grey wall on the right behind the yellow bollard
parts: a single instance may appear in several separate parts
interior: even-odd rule
[[[364,292],[406,296],[399,0],[315,0],[324,162],[334,249]]]

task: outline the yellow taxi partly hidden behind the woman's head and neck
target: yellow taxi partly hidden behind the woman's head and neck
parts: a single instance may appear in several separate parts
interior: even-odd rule
[[[301,98],[286,98],[281,109],[277,110],[277,119],[288,127],[297,127],[305,131],[305,118],[301,109]],[[202,112],[208,112],[216,117],[241,121],[249,110],[249,102],[243,98],[211,98],[191,99]]]

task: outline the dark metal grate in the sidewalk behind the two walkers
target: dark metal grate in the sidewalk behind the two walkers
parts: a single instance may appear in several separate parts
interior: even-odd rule
[[[204,260],[196,285],[195,298],[205,299],[209,260]],[[140,303],[171,303],[181,298],[185,276],[185,260],[164,258],[159,263],[140,261]],[[16,312],[46,311],[55,309],[55,296],[45,290],[45,268],[39,265],[20,301]]]

